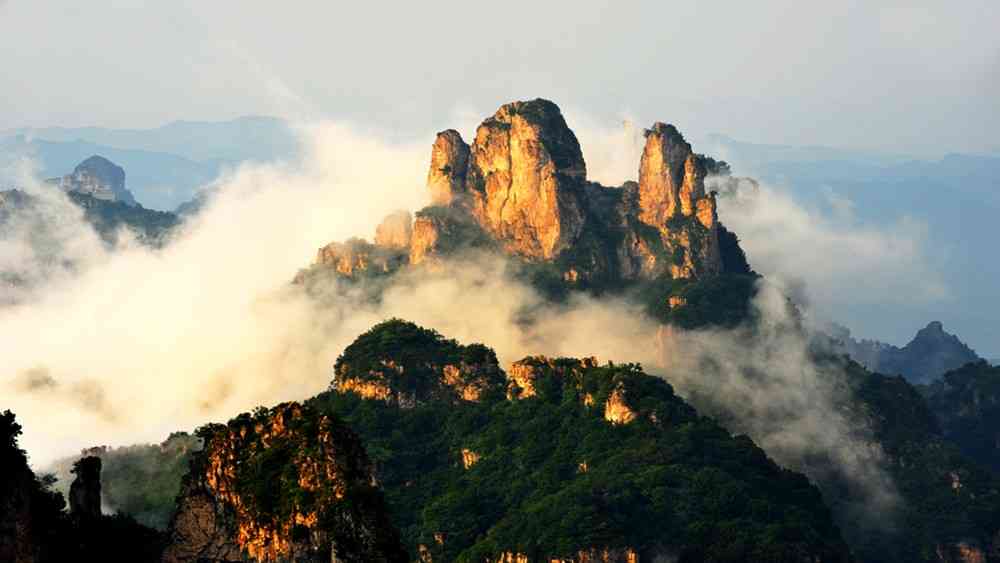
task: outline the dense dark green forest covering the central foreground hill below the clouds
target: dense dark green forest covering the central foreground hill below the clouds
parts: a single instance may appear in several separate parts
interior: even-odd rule
[[[399,334],[383,327],[378,341],[362,337],[367,357],[408,362],[414,345],[422,355],[452,353],[451,341],[394,326]],[[440,350],[426,349],[437,342]],[[535,395],[516,400],[498,392],[404,409],[331,390],[312,404],[363,438],[413,557],[424,546],[442,561],[592,547],[680,561],[847,558],[804,476],[699,417],[663,380],[636,365],[557,360],[538,369]],[[628,424],[604,417],[616,390],[635,413]],[[478,458],[468,468],[463,450]]]

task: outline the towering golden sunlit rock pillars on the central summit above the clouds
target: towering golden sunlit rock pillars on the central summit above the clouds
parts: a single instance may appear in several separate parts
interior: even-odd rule
[[[399,251],[408,241],[405,259],[389,268],[489,247],[554,264],[571,286],[698,278],[732,267],[745,273],[720,251],[715,196],[705,188],[713,174],[728,175],[728,165],[694,153],[675,127],[656,123],[646,132],[638,183],[590,182],[559,108],[542,99],[512,102],[482,122],[471,144],[455,130],[438,133],[427,174],[432,206],[409,230],[402,215],[387,219],[374,247]],[[724,242],[736,245],[735,237]],[[315,265],[347,277],[387,267],[333,245]]]

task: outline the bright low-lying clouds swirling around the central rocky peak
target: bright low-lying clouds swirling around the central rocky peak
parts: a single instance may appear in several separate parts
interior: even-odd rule
[[[595,131],[601,138],[581,135],[583,146],[605,147],[596,160],[618,171],[628,159],[614,145],[628,135]],[[55,246],[79,266],[68,275],[40,274],[31,299],[0,309],[0,342],[9,350],[0,367],[2,406],[17,412],[34,465],[86,446],[158,442],[258,404],[312,395],[327,386],[347,344],[395,316],[484,342],[504,362],[539,353],[641,362],[780,463],[846,476],[879,513],[895,502],[863,421],[840,410],[835,368],[815,365],[807,336],[790,328],[790,290],[778,280],[804,281],[813,303],[835,304],[829,297],[839,288],[872,279],[890,292],[916,287],[935,298],[943,287],[907,225],[873,228],[817,215],[767,187],[752,199],[723,198],[723,221],[755,268],[776,280],[759,293],[756,330],[665,331],[618,299],[546,305],[505,275],[501,259],[483,256],[464,257],[446,272],[401,275],[378,304],[330,287],[332,298],[319,306],[289,284],[294,273],[318,246],[371,233],[394,209],[421,207],[429,143],[389,145],[338,124],[303,134],[311,150],[302,162],[236,170],[159,250],[108,252],[96,237],[78,244],[77,235],[91,236],[79,234],[82,218],[63,196],[46,196],[71,225],[68,234],[53,231]],[[21,248],[17,235],[29,230],[8,233],[4,244]],[[23,251],[9,256],[21,268],[38,260]],[[900,280],[908,272],[924,275]]]

